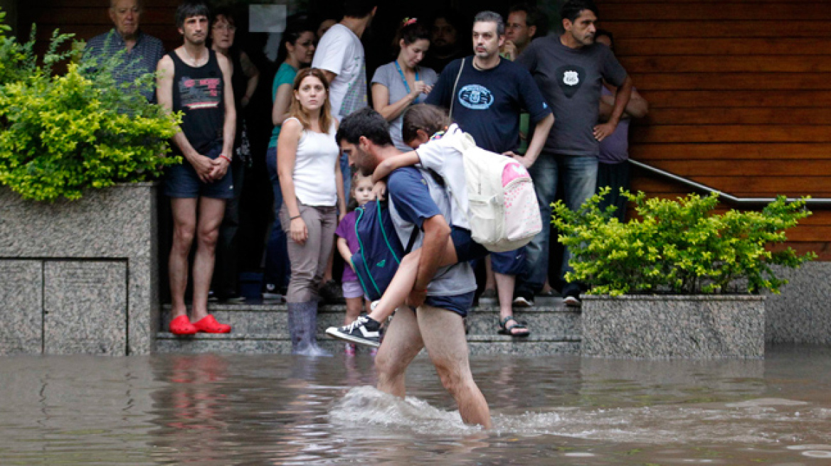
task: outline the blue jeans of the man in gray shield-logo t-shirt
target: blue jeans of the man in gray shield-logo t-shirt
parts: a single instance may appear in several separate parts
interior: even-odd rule
[[[550,240],[551,204],[556,201],[557,183],[563,182],[563,201],[571,210],[577,210],[594,194],[597,186],[597,158],[540,153],[529,169],[537,191],[539,212],[543,217],[543,231],[525,246],[524,273],[519,275],[518,292],[533,293],[543,287],[548,276],[548,241]],[[568,248],[563,252],[563,265],[559,278],[572,270],[568,265],[571,255]],[[569,284],[577,287],[578,284]],[[572,287],[572,288],[573,288]],[[566,288],[569,288],[568,285]],[[563,293],[566,290],[563,289]]]

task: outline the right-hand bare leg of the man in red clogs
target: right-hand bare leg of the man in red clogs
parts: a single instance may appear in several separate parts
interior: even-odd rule
[[[208,291],[214,275],[216,241],[219,225],[225,213],[225,200],[199,198],[199,221],[196,227],[196,255],[194,257],[194,306],[190,319],[199,321],[208,315]]]

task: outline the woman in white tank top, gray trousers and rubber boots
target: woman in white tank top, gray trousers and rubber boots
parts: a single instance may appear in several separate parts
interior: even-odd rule
[[[337,121],[329,109],[328,92],[321,70],[300,70],[294,79],[291,116],[277,141],[283,191],[280,221],[292,263],[286,294],[288,330],[295,354],[324,354],[315,336],[317,286],[332,253],[338,214],[346,215]]]

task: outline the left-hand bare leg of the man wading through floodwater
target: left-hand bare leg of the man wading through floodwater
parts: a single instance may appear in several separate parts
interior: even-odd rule
[[[378,390],[403,398],[406,395],[404,376],[407,366],[422,347],[424,342],[416,313],[411,308],[400,308],[386,330],[384,342],[375,357]]]

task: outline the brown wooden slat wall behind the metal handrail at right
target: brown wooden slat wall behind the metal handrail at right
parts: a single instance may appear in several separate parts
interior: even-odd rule
[[[632,158],[737,197],[831,197],[827,2],[599,0],[598,7],[651,105],[633,124]],[[691,192],[632,173],[632,187],[654,196]],[[831,260],[831,209],[812,211],[789,231],[789,245]]]

